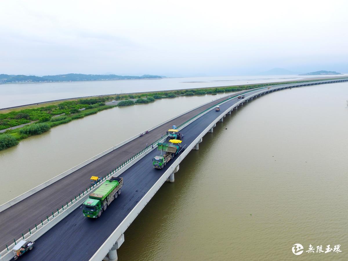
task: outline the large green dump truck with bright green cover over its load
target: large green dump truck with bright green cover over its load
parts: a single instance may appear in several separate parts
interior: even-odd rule
[[[123,179],[121,177],[112,177],[106,180],[99,188],[89,195],[89,198],[82,205],[84,216],[97,218],[110,205],[112,200],[121,194]]]

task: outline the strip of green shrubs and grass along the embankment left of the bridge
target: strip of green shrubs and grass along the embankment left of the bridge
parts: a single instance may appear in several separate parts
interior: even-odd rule
[[[318,79],[322,80],[322,79]],[[196,89],[168,90],[148,93],[118,94],[98,96],[94,98],[81,98],[67,101],[57,101],[45,104],[46,106],[31,105],[20,108],[0,111],[0,130],[26,124],[32,124],[21,128],[9,129],[0,133],[0,150],[13,147],[19,141],[33,135],[48,131],[50,128],[81,119],[99,111],[114,107],[130,106],[155,102],[162,98],[174,98],[178,96],[216,95],[217,93],[232,93],[242,90],[255,89],[279,84],[298,83],[313,80],[272,82],[264,84],[252,84],[243,86],[205,87]],[[120,101],[117,105],[105,105],[108,101]]]

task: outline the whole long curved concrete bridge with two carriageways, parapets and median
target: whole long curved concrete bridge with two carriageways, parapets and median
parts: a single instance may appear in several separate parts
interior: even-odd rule
[[[275,90],[348,81],[322,80],[252,89],[199,106],[150,129],[143,137],[132,137],[52,180],[0,206],[1,260],[13,258],[11,249],[20,239],[35,240],[35,247],[22,260],[117,260],[124,233],[161,185],[174,182],[180,163],[191,150],[198,150],[204,135],[212,133],[226,114]],[[244,99],[238,99],[244,94]],[[220,111],[214,110],[220,106]],[[166,130],[179,125],[187,149],[164,169],[152,167],[158,153],[145,148],[166,139]],[[208,134],[209,135],[209,134]],[[96,220],[82,215],[81,204],[96,187],[91,175],[124,178],[117,200]],[[60,222],[62,221],[62,222]],[[7,250],[8,248],[8,250]]]

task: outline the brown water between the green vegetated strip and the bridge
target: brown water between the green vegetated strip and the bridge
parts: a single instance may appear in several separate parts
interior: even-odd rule
[[[22,140],[16,147],[0,151],[0,205],[160,122],[226,95],[177,97],[117,107]],[[171,110],[158,113],[164,108]]]

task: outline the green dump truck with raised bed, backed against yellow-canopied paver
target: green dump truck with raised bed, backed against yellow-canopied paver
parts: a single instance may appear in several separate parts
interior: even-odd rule
[[[164,168],[166,166],[167,162],[175,157],[177,153],[179,153],[181,146],[180,143],[182,141],[180,140],[169,140],[170,144],[168,143],[157,143],[157,150],[161,151],[161,156],[156,156],[152,159],[152,165],[154,168]],[[165,152],[162,156],[162,152]]]

